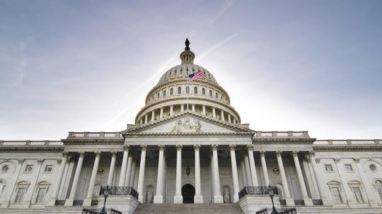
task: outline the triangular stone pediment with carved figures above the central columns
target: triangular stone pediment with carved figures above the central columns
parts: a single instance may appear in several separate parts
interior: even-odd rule
[[[204,117],[194,112],[182,112],[172,117],[134,126],[125,133],[243,133],[253,132],[240,125]]]

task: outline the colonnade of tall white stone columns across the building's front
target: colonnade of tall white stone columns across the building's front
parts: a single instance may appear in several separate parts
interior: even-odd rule
[[[146,150],[147,145],[140,145],[141,147],[141,158],[140,158],[140,164],[139,164],[139,176],[138,176],[138,185],[137,185],[137,191],[139,193],[139,201],[144,201],[144,172],[146,167]],[[201,145],[196,144],[193,145],[194,152],[195,152],[195,203],[203,203],[203,196],[201,193],[201,181],[200,181],[200,157],[199,157],[199,150]],[[156,195],[154,196],[154,203],[163,203],[163,187],[165,184],[164,180],[164,174],[165,174],[165,163],[164,163],[164,149],[165,145],[158,145],[159,148],[159,155],[158,155],[158,177],[157,177],[157,184],[156,184]],[[219,145],[214,144],[211,145],[212,150],[212,179],[213,179],[213,202],[214,203],[224,203],[223,196],[221,195],[221,186],[220,186],[220,180],[219,180],[219,157],[217,155],[217,150],[219,148]],[[238,180],[238,164],[236,162],[236,145],[228,145],[228,148],[230,150],[231,155],[231,168],[232,168],[232,181],[233,181],[233,200],[236,203],[238,201],[238,192],[240,191],[240,186],[259,186],[258,180],[257,180],[257,173],[255,168],[255,158],[253,155],[253,145],[246,145],[245,146],[245,153],[243,154],[243,160],[240,162],[241,166],[241,182],[242,185],[239,185]],[[183,203],[183,196],[182,196],[182,149],[183,145],[176,145],[176,179],[175,179],[175,196],[174,196],[174,203]],[[260,162],[262,167],[262,174],[264,176],[265,180],[265,186],[270,184],[270,179],[268,176],[268,170],[267,170],[267,163],[265,161],[265,151],[260,150]],[[282,187],[283,187],[283,193],[284,193],[284,200],[286,201],[287,205],[294,205],[294,199],[291,198],[291,194],[289,191],[289,185],[287,182],[287,176],[285,174],[284,165],[282,162],[282,151],[277,150],[276,152],[277,157],[277,165],[279,167],[279,174],[282,179]],[[88,191],[86,194],[86,198],[83,201],[83,206],[90,206],[91,199],[93,197],[93,191],[94,191],[94,184],[96,181],[96,175],[98,170],[98,165],[100,162],[100,152],[95,152],[95,159],[93,164],[93,170],[91,173],[91,179],[88,184]],[[69,198],[66,199],[65,206],[71,206],[73,204],[73,201],[76,196],[76,190],[77,186],[79,185],[79,178],[81,174],[81,167],[83,165],[83,158],[85,153],[79,152],[79,160],[76,166],[76,171],[74,174],[74,179],[72,182]],[[115,162],[117,153],[112,152],[111,153],[112,158],[110,162],[110,170],[108,174],[108,184],[111,185],[112,183],[112,175],[115,170]],[[301,165],[299,163],[299,151],[292,151],[291,155],[294,160],[294,165],[296,167],[296,174],[299,181],[299,187],[301,189],[301,194],[304,203],[309,206],[313,205],[311,198],[308,197],[308,193],[306,190],[306,184],[303,180],[303,174],[301,170]],[[320,195],[320,198],[325,198],[323,193],[325,190],[323,189],[323,185],[320,183],[320,177],[316,169],[316,162],[313,162],[314,153],[311,152],[309,158],[312,162],[312,169],[314,176],[316,177],[317,186],[318,186],[318,194]],[[59,169],[59,177],[57,178],[57,184],[54,186],[54,191],[52,194],[53,199],[57,199],[58,192],[59,192],[59,186],[61,186],[62,176],[64,174],[64,165],[67,161],[67,153],[63,153],[62,158],[62,165]],[[313,160],[312,160],[313,159]],[[136,162],[132,155],[129,155],[129,146],[124,145],[124,152],[122,157],[122,167],[121,167],[121,174],[120,179],[118,182],[118,186],[133,186],[134,184],[134,174],[135,174],[135,165]]]

